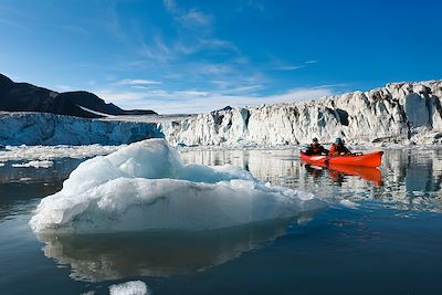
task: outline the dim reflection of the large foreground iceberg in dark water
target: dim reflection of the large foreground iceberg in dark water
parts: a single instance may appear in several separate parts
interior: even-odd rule
[[[311,215],[301,217],[308,220]],[[283,235],[293,220],[206,232],[40,235],[44,255],[71,266],[71,276],[99,282],[166,277],[203,271]]]

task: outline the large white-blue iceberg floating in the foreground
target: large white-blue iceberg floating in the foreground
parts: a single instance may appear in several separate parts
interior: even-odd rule
[[[164,139],[131,144],[82,162],[63,189],[44,198],[35,232],[213,230],[286,219],[324,202],[223,166],[183,165]]]

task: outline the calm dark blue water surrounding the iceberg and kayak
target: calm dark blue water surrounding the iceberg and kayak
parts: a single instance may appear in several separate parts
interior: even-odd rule
[[[377,170],[330,171],[297,150],[186,151],[233,164],[330,206],[297,220],[199,233],[35,236],[44,196],[81,160],[0,167],[0,294],[108,294],[133,280],[152,294],[441,294],[442,151],[387,150]],[[356,209],[339,204],[343,199]]]

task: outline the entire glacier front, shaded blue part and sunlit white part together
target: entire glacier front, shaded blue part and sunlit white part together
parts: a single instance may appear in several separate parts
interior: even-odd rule
[[[0,113],[3,145],[120,145],[166,138],[177,146],[267,147],[324,143],[442,143],[442,81],[390,83],[298,103],[224,108],[198,115],[84,119]]]

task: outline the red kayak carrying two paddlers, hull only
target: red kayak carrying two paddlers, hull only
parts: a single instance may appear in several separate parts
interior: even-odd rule
[[[348,155],[348,156],[307,156],[301,151],[301,159],[308,164],[328,166],[328,165],[348,165],[359,167],[379,167],[382,160],[383,151],[373,151],[365,155]]]

